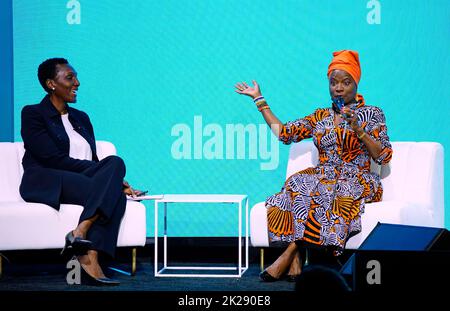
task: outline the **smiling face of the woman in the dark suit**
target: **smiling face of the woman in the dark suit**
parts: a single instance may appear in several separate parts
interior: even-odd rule
[[[77,101],[80,81],[78,81],[77,72],[69,64],[56,65],[56,76],[47,80],[47,86],[52,90],[53,96],[64,102],[75,103]]]

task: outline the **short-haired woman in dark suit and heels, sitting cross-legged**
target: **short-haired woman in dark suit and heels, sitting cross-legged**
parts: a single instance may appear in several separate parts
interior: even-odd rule
[[[69,107],[77,100],[80,82],[66,59],[51,58],[39,65],[38,78],[48,93],[40,104],[22,109],[25,146],[20,194],[27,202],[82,205],[78,226],[66,235],[63,252],[78,255],[83,275],[99,285],[118,285],[107,278],[98,252],[113,257],[125,194],[135,191],[124,181],[121,158],[99,161],[92,124],[86,113]]]

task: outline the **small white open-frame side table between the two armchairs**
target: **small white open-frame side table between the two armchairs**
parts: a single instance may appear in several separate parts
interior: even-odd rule
[[[158,205],[164,203],[164,264],[158,266]],[[220,266],[169,266],[167,258],[167,205],[168,203],[230,203],[238,205],[238,265]],[[245,205],[245,265],[242,263],[242,207]],[[162,199],[155,200],[155,277],[241,277],[248,269],[248,198],[238,194],[165,194]],[[235,271],[236,273],[176,273],[172,271]]]

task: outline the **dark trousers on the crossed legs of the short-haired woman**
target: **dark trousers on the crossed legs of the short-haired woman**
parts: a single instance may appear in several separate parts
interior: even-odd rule
[[[114,257],[120,222],[127,204],[123,193],[125,164],[109,156],[81,173],[64,172],[61,203],[84,207],[79,223],[99,215],[86,239],[93,248]]]

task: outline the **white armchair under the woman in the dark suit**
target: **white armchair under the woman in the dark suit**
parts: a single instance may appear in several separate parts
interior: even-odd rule
[[[116,154],[110,142],[97,141],[96,147],[99,159]],[[57,211],[45,204],[25,202],[19,193],[24,152],[21,142],[0,143],[0,251],[62,248],[67,232],[77,226],[83,207],[61,204]],[[146,241],[145,215],[142,203],[127,201],[117,246],[134,247],[132,274],[136,269],[135,247],[144,246]],[[1,272],[0,256],[0,276]]]

